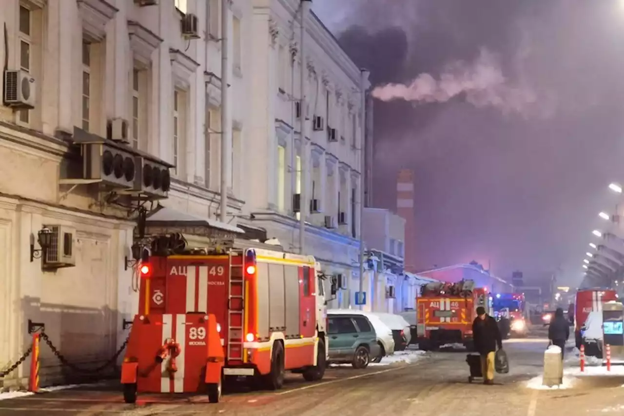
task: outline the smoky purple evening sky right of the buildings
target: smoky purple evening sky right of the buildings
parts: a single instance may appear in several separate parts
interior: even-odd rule
[[[624,181],[624,2],[313,4],[390,99],[376,101],[374,200],[396,208],[397,171],[416,172],[422,267],[490,260],[578,284],[617,203],[607,185]]]

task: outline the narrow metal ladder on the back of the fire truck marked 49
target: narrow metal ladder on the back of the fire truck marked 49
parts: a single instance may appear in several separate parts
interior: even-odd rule
[[[245,305],[245,279],[243,262],[232,264],[230,255],[230,285],[228,287],[228,360],[243,359],[243,323]]]

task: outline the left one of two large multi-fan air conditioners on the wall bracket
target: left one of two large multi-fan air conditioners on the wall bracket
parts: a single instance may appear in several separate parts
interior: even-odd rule
[[[105,143],[82,145],[82,179],[99,179],[115,188],[131,189],[137,177],[135,155]]]

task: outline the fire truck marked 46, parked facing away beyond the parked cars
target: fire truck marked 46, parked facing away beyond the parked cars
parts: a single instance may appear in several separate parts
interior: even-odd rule
[[[489,292],[475,288],[473,280],[459,283],[429,283],[417,298],[418,344],[423,350],[445,344],[463,344],[474,349],[472,322],[479,306],[490,311]]]

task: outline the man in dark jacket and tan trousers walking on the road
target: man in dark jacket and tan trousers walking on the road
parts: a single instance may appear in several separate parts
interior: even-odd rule
[[[477,317],[472,322],[474,348],[481,355],[481,371],[484,384],[494,384],[494,356],[496,347],[502,349],[499,325],[485,313],[485,308],[477,308]]]

